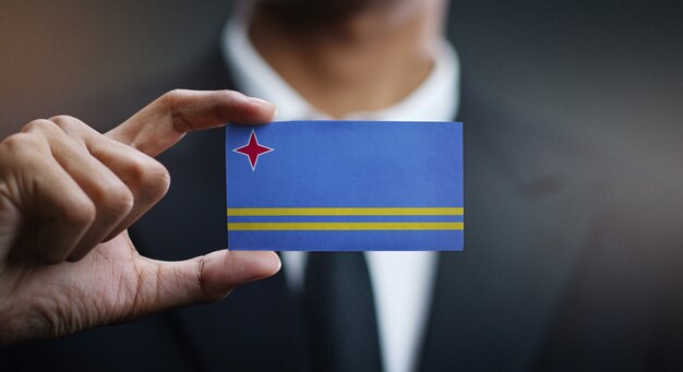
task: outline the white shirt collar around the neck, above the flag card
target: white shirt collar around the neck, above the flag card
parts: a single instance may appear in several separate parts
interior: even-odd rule
[[[226,22],[221,52],[239,89],[277,106],[277,120],[326,119],[259,55],[247,35],[248,16],[237,13]],[[349,113],[350,120],[450,121],[459,105],[457,52],[441,39],[432,48],[434,67],[422,84],[400,101],[380,111]]]

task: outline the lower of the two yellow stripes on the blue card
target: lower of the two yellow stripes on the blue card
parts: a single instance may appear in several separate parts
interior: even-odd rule
[[[463,230],[464,223],[229,223],[230,231],[263,230]]]

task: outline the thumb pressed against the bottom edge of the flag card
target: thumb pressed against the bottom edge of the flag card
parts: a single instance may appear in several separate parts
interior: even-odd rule
[[[180,262],[142,259],[133,309],[137,315],[220,300],[237,286],[274,275],[281,265],[274,252],[228,250]]]

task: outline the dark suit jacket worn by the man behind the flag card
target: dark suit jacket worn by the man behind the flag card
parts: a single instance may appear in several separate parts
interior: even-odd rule
[[[157,93],[231,86],[217,52],[185,75]],[[462,96],[465,251],[440,253],[418,370],[683,368],[675,191],[467,85]],[[223,134],[192,133],[160,156],[172,183],[132,229],[143,254],[225,247]],[[280,272],[220,303],[8,348],[0,367],[305,371],[298,311]]]

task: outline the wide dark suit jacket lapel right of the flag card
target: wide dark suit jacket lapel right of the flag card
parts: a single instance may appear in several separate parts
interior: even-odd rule
[[[589,224],[562,146],[464,98],[465,250],[441,253],[420,371],[528,370]]]

